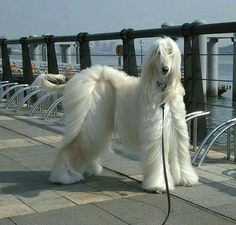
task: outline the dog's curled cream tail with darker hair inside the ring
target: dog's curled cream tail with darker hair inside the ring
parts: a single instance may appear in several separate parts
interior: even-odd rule
[[[47,92],[64,92],[66,77],[63,74],[40,74],[31,87],[38,86]]]

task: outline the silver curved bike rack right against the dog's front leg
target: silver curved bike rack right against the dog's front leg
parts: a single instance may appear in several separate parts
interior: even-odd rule
[[[193,120],[193,151],[196,150],[197,148],[197,119],[200,116],[206,116],[209,115],[210,112],[204,112],[204,111],[196,111],[196,112],[192,112],[186,115],[186,122],[190,122],[191,120]],[[190,129],[191,132],[191,129]],[[190,136],[192,136],[190,134]]]

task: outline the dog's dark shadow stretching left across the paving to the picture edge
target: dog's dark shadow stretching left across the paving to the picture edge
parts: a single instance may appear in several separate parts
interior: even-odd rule
[[[125,196],[128,192],[142,192],[140,183],[116,175],[91,176],[76,184],[52,184],[49,171],[3,171],[0,172],[0,194],[14,194],[34,198],[41,192],[113,192]]]

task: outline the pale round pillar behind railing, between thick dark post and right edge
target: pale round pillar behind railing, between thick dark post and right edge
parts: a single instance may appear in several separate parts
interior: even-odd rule
[[[218,96],[218,39],[207,42],[207,96]]]

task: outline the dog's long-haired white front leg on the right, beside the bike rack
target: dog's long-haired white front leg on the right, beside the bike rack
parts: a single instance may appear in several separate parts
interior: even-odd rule
[[[183,186],[192,186],[198,183],[198,176],[191,165],[189,154],[189,135],[185,120],[185,104],[183,96],[176,96],[170,102],[173,127],[176,132],[176,145],[180,167],[180,183]]]

